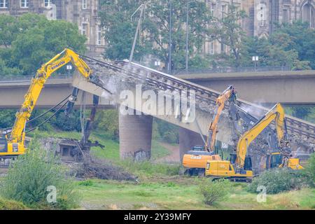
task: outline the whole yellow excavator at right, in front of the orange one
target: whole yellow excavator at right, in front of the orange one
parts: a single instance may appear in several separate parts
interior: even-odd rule
[[[206,176],[216,178],[235,179],[237,181],[248,181],[253,177],[251,157],[247,155],[248,146],[265,130],[265,128],[275,121],[278,144],[280,148],[287,147],[288,141],[285,138],[285,117],[281,104],[276,104],[265,116],[245,132],[238,141],[237,154],[232,154],[228,160],[208,160],[206,165]],[[284,144],[284,146],[283,146]],[[283,155],[282,152],[272,153],[272,156]],[[286,164],[281,162],[278,167],[290,167],[291,169],[302,169],[297,158],[287,158]]]

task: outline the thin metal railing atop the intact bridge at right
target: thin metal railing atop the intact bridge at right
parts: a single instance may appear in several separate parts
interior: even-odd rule
[[[255,71],[290,71],[290,66],[259,66],[259,67],[230,67],[216,69],[178,69],[172,71],[173,75],[184,75],[190,73],[233,73],[233,72],[255,72]]]

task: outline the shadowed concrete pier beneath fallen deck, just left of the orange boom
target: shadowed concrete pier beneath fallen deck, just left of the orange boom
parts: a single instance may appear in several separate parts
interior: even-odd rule
[[[196,132],[187,130],[186,128],[179,128],[179,155],[181,162],[183,160],[183,155],[190,151],[193,146],[204,146],[202,137]]]

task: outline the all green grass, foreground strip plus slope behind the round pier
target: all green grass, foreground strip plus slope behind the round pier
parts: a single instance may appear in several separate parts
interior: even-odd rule
[[[42,137],[80,139],[78,132],[41,132]],[[92,133],[92,141],[106,148],[92,148],[97,158],[106,158],[128,172],[139,176],[140,184],[128,181],[91,179],[78,181],[80,209],[315,209],[315,190],[289,191],[267,195],[267,202],[258,203],[257,194],[246,192],[246,183],[233,183],[226,200],[213,206],[203,203],[195,178],[178,176],[179,165],[156,163],[169,155],[167,148],[153,140],[153,162],[134,163],[119,160],[119,144],[104,134]]]

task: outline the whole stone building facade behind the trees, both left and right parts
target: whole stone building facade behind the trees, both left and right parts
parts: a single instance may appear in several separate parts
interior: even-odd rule
[[[315,0],[199,0],[204,1],[217,17],[228,13],[233,4],[245,10],[248,17],[239,21],[248,36],[265,36],[276,29],[276,23],[302,20],[315,28]],[[99,0],[0,0],[0,13],[22,15],[38,13],[49,20],[66,20],[78,25],[81,34],[87,37],[87,49],[90,55],[100,55],[106,42],[98,17]],[[207,41],[205,38],[204,55],[214,55],[229,49],[219,41]]]

